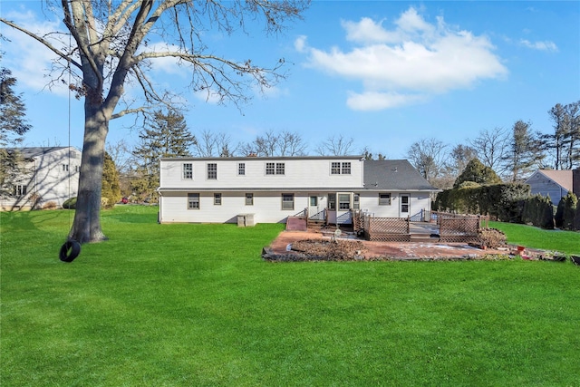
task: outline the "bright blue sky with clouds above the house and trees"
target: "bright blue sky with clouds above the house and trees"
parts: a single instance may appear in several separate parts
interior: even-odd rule
[[[39,1],[0,2],[3,17],[33,31],[63,30]],[[0,24],[3,66],[17,78],[33,129],[24,145],[82,149],[82,102],[61,85],[48,90],[53,58]],[[331,136],[353,138],[390,159],[435,138],[453,146],[479,131],[531,121],[552,131],[547,111],[580,100],[580,2],[314,1],[285,34],[208,34],[216,53],[269,66],[285,58],[288,77],[240,112],[188,92],[182,69],[158,63],[151,76],[184,92],[189,130],[226,133],[233,143],[266,131],[299,133],[309,153]],[[169,65],[168,65],[169,64]],[[254,94],[254,91],[249,91]],[[70,111],[70,113],[69,113]],[[69,120],[70,114],[70,120]],[[108,141],[134,143],[140,127],[111,121]]]

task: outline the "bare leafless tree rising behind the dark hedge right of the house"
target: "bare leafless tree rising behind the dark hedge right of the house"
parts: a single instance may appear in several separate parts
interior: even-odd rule
[[[505,159],[509,151],[509,140],[509,132],[496,127],[490,131],[479,131],[477,138],[469,140],[469,145],[476,151],[483,165],[493,169],[500,177],[507,178]]]

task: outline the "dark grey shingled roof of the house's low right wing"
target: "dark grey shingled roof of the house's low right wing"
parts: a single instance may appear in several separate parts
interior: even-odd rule
[[[372,190],[439,191],[408,160],[364,160],[364,188]]]

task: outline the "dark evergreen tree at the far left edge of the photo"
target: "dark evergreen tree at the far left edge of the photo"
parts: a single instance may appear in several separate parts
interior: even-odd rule
[[[14,92],[15,85],[12,72],[0,68],[0,195],[12,195],[10,184],[20,172],[18,152],[6,148],[17,146],[30,130],[25,119],[26,107]]]

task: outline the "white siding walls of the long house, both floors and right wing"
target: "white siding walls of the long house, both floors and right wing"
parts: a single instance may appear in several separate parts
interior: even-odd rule
[[[282,162],[284,175],[266,175],[266,163]],[[333,174],[333,162],[350,162],[350,174]],[[245,164],[245,174],[238,164]],[[184,164],[191,164],[192,179],[184,179]],[[217,179],[208,179],[208,164],[217,165]],[[255,223],[285,222],[308,209],[316,213],[333,213],[334,221],[349,211],[324,211],[329,193],[360,196],[359,208],[375,217],[406,218],[430,209],[430,192],[385,191],[391,194],[390,206],[379,206],[379,192],[364,189],[363,161],[359,158],[231,158],[231,159],[161,159],[160,223],[236,223],[237,215],[253,214]],[[199,195],[199,208],[188,208],[188,193]],[[221,205],[214,204],[214,193],[221,194]],[[246,193],[254,195],[253,206],[246,205]],[[282,194],[294,194],[294,208],[282,209]],[[401,214],[401,195],[410,198],[410,211]],[[311,206],[310,197],[317,198]],[[338,207],[338,203],[337,203]]]

